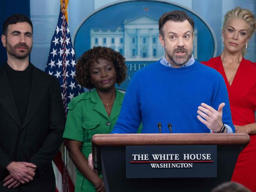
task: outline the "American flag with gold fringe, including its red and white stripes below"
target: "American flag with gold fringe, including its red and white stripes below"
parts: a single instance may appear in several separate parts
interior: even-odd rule
[[[48,62],[45,72],[58,78],[61,85],[62,99],[67,117],[67,104],[75,96],[84,92],[84,89],[75,81],[76,56],[71,43],[69,27],[67,25],[67,0],[61,0],[61,9],[56,30],[52,37]],[[56,191],[73,192],[74,185],[70,174],[73,174],[74,166],[67,155],[64,146],[54,158],[52,164],[56,177]],[[71,167],[71,170],[69,170]]]

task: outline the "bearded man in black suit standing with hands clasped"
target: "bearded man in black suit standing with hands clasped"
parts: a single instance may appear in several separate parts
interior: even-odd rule
[[[25,15],[4,22],[7,62],[0,67],[0,191],[54,192],[51,161],[65,117],[57,78],[29,62],[33,25]]]

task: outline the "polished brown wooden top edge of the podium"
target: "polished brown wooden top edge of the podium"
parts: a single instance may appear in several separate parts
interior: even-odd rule
[[[156,134],[95,134],[92,145],[247,145],[245,133],[156,133]]]

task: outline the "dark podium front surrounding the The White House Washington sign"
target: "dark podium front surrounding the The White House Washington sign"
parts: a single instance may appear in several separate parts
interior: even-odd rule
[[[241,147],[217,146],[215,178],[145,178],[127,179],[125,146],[101,147],[101,164],[106,191],[110,192],[206,192],[230,181]]]

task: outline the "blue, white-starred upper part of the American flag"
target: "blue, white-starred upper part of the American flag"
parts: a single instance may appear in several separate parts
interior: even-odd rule
[[[75,81],[76,66],[75,51],[71,43],[71,37],[65,15],[60,12],[58,25],[52,37],[48,62],[45,72],[58,78],[65,112],[67,103],[75,96],[84,92],[84,89]]]

